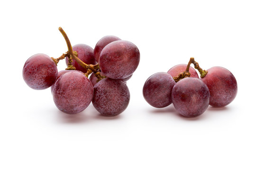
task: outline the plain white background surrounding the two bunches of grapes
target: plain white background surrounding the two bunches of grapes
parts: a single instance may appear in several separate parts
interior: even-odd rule
[[[254,0],[5,0],[0,8],[1,170],[256,169]],[[137,45],[141,59],[121,115],[101,117],[92,105],[67,115],[50,89],[25,84],[30,56],[67,51],[59,26],[73,45],[94,48],[105,35]],[[204,69],[229,69],[236,99],[193,119],[146,103],[146,79],[190,57]]]

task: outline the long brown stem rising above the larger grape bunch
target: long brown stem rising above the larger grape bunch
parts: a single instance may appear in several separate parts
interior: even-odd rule
[[[82,66],[83,68],[87,69],[87,72],[84,73],[85,76],[88,77],[92,72],[94,72],[94,73],[99,72],[99,69],[100,69],[99,64],[96,64],[96,65],[93,65],[93,64],[86,64],[86,63],[84,63],[81,59],[79,59],[79,58],[77,57],[76,51],[73,51],[72,45],[71,45],[71,43],[70,43],[70,41],[69,41],[69,39],[68,39],[68,36],[67,36],[67,34],[64,32],[64,30],[62,29],[62,27],[59,27],[59,31],[60,31],[61,34],[63,35],[63,37],[64,37],[64,39],[65,39],[65,41],[66,41],[66,43],[67,43],[67,47],[68,47],[68,51],[67,51],[67,53],[66,53],[66,55],[65,55],[65,57],[68,57],[68,68],[66,68],[66,69],[75,69],[75,68],[73,67],[73,65],[71,64],[71,63],[72,63],[72,59],[74,59],[74,60],[76,60],[76,62],[77,62],[80,66]]]

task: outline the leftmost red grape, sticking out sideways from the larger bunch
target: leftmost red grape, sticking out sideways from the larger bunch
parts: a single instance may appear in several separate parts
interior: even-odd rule
[[[55,62],[46,54],[35,54],[24,64],[23,79],[35,90],[43,90],[54,84],[58,69]]]

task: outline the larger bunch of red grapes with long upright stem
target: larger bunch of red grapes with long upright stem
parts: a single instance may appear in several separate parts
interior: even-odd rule
[[[56,107],[67,114],[79,113],[91,102],[103,116],[123,112],[130,100],[126,81],[140,60],[137,46],[116,36],[101,38],[94,50],[85,44],[71,46],[64,30],[59,31],[68,51],[56,59],[46,54],[27,59],[22,72],[27,85],[35,90],[51,87]],[[67,68],[58,72],[61,59]]]

